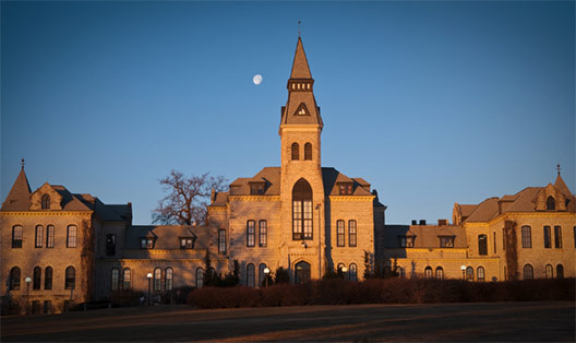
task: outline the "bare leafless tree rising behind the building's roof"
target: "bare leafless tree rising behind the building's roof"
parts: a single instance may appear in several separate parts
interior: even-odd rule
[[[227,180],[221,175],[213,177],[206,173],[187,177],[176,169],[160,179],[160,185],[168,194],[152,211],[153,223],[157,224],[205,224],[212,190],[227,189]]]

